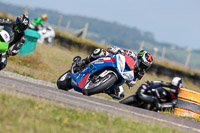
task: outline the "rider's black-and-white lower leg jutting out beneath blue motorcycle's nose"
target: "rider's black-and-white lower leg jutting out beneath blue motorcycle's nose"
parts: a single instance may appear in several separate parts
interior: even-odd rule
[[[121,100],[124,98],[124,89],[122,86],[119,86],[108,93],[114,100]]]

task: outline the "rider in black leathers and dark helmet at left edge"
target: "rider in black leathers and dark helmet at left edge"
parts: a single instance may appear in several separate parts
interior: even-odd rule
[[[24,31],[27,29],[29,24],[28,16],[22,14],[16,18],[16,21],[10,19],[0,19],[0,25],[10,27],[14,32],[14,39],[9,43],[8,51],[1,54],[0,58],[0,70],[6,67],[7,57],[15,56],[19,52],[19,49],[23,46],[26,41]]]

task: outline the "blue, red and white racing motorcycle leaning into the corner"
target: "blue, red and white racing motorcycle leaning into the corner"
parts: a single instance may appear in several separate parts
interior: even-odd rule
[[[109,94],[125,81],[132,81],[134,78],[135,60],[129,56],[117,54],[99,58],[83,68],[76,66],[80,60],[81,57],[75,57],[71,69],[58,78],[59,89],[68,91],[74,88],[88,96]]]

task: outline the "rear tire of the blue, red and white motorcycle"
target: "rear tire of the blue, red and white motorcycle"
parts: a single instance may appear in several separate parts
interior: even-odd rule
[[[58,78],[57,87],[58,89],[65,90],[65,91],[72,89],[70,71],[67,71],[66,73],[64,73]]]

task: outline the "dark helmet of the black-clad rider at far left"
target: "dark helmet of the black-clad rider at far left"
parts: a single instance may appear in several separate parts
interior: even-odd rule
[[[28,24],[29,24],[28,16],[22,14],[16,18],[15,25],[14,25],[14,31],[21,33],[27,29]]]

